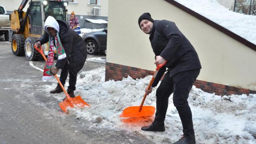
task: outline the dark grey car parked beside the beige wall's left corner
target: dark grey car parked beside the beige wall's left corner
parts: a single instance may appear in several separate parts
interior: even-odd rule
[[[86,44],[88,54],[97,54],[107,49],[107,33],[108,28],[92,33],[85,33],[83,40]]]

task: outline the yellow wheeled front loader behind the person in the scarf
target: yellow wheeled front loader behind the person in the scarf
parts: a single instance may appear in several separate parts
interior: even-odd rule
[[[11,30],[9,41],[14,55],[26,55],[30,61],[37,61],[41,54],[34,48],[36,40],[44,33],[44,23],[48,16],[57,20],[67,21],[67,2],[53,0],[30,0],[26,12],[22,9],[29,0],[22,0],[19,9],[10,15]],[[48,45],[44,44],[45,54],[48,54]]]

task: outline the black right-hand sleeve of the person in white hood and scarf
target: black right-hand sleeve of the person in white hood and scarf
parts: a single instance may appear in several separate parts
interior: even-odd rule
[[[65,59],[57,60],[56,67],[63,69],[65,64],[67,63],[68,58],[70,57],[70,54],[73,52],[73,36],[69,34],[69,32],[64,33],[63,36],[60,36],[61,44],[64,47],[65,54],[67,57]]]

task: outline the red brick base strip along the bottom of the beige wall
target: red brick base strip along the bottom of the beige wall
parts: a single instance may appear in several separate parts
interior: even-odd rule
[[[135,68],[132,66],[119,65],[115,63],[106,63],[106,73],[105,73],[105,81],[109,79],[113,79],[114,81],[120,81],[122,78],[127,78],[128,76],[133,79],[136,78],[145,78],[148,75],[153,75],[153,70],[145,70],[141,68]],[[231,94],[256,94],[255,90],[242,89],[237,87],[231,87],[228,85],[222,85],[219,83],[212,83],[208,81],[196,80],[194,85],[204,90],[205,92],[213,93],[216,95],[231,95]]]

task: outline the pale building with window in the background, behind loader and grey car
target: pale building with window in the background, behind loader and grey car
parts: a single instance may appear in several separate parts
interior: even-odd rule
[[[108,21],[108,0],[62,1],[69,2],[69,5],[67,6],[68,19],[70,17],[70,13],[74,11],[76,17],[80,22],[81,28],[99,29],[107,27],[106,21]],[[9,14],[11,14],[15,9],[18,9],[21,2],[22,0],[0,0],[0,4],[2,4],[6,8],[7,13]],[[28,5],[29,4],[27,4],[23,11],[26,11]],[[93,23],[92,21],[95,23]]]

